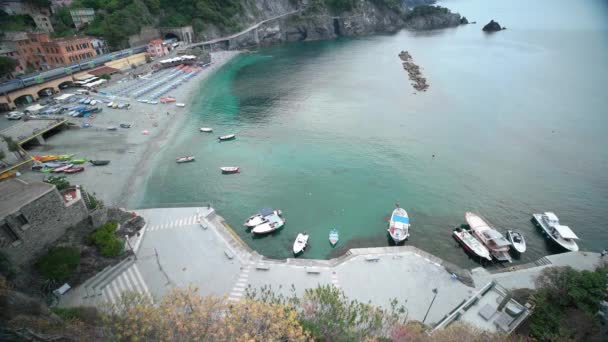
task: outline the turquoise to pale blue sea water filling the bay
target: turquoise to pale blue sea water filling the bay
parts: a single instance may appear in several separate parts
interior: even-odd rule
[[[235,58],[201,85],[134,206],[211,203],[269,257],[291,256],[302,231],[311,234],[308,258],[386,246],[396,201],[411,217],[408,245],[465,266],[474,263],[450,234],[469,210],[523,231],[521,262],[556,252],[530,223],[533,212],[555,211],[583,249],[608,247],[608,4],[442,4],[478,24]],[[508,30],[484,34],[490,19]],[[426,93],[415,94],[401,50],[423,68]],[[228,133],[237,139],[217,142]],[[195,163],[174,162],[189,153]],[[233,165],[242,173],[220,174]],[[241,224],[265,206],[282,209],[287,223],[254,239]]]

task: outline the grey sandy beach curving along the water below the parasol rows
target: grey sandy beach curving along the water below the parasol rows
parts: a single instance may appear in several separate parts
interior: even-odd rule
[[[78,158],[111,160],[106,166],[85,164],[85,171],[66,175],[72,184],[85,186],[96,194],[106,205],[126,207],[138,192],[139,184],[145,179],[149,163],[154,155],[171,141],[177,128],[190,113],[190,104],[203,80],[221,68],[239,52],[220,51],[211,54],[211,66],[203,69],[188,82],[171,90],[165,96],[174,97],[177,103],[185,103],[184,108],[168,104],[139,103],[135,99],[123,99],[131,109],[112,109],[104,106],[103,111],[93,119],[75,118],[77,124],[47,139],[47,144],[29,151],[30,154],[74,154]],[[147,65],[141,68],[146,68]],[[140,72],[140,70],[136,70]],[[118,79],[118,77],[116,77]],[[111,81],[101,91],[112,89],[118,80]],[[69,91],[70,93],[73,91]],[[101,96],[91,96],[101,99]],[[169,114],[167,114],[169,113]],[[83,123],[91,127],[82,128]],[[129,129],[118,128],[109,131],[108,126],[131,123]],[[148,131],[148,134],[143,134]],[[47,174],[28,171],[24,180],[42,180]]]

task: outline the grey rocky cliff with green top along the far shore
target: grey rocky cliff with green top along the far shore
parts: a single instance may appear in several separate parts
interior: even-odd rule
[[[299,11],[285,7],[285,10],[298,12],[260,25],[254,35],[240,37],[233,47],[244,48],[280,42],[394,33],[403,28],[441,29],[467,23],[466,18],[446,8],[428,5],[411,7],[411,4],[432,2],[431,0],[402,2],[358,0],[354,1],[352,6],[335,8],[328,5],[329,2],[325,0],[312,0],[306,3],[302,1],[299,3],[301,7],[295,7],[299,8]],[[298,2],[289,1],[289,3],[293,5]]]

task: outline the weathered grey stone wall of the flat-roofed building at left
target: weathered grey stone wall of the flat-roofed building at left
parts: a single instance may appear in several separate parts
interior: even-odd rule
[[[27,224],[22,225],[17,220],[20,214]],[[82,199],[66,207],[57,189],[53,189],[5,218],[19,240],[2,251],[16,266],[27,264],[44,253],[69,227],[87,217],[88,210]]]

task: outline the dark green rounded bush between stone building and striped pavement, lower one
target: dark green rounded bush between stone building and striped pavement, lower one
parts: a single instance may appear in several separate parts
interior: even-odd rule
[[[36,263],[36,269],[47,279],[64,282],[80,264],[80,251],[74,247],[55,247]]]

